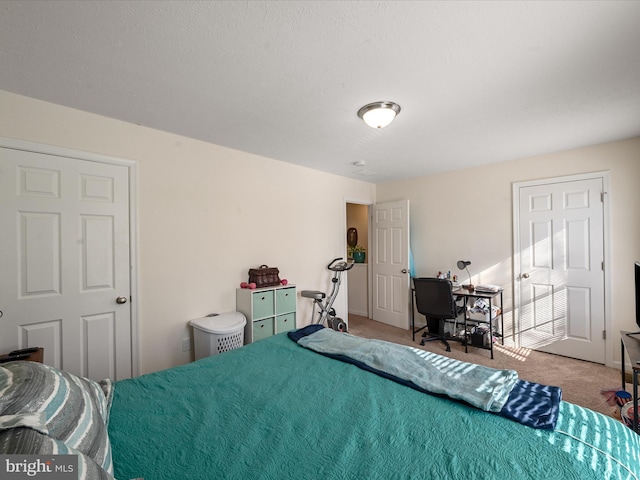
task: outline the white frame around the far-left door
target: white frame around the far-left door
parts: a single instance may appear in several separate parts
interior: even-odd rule
[[[112,157],[99,153],[85,152],[70,148],[57,147],[44,143],[18,140],[15,138],[1,137],[0,147],[13,150],[21,150],[43,155],[54,155],[58,157],[73,158],[76,160],[96,162],[109,165],[126,167],[129,172],[129,280],[131,289],[131,301],[129,308],[131,311],[131,375],[137,377],[140,367],[139,349],[139,307],[138,304],[138,197],[137,197],[137,163],[119,157]]]

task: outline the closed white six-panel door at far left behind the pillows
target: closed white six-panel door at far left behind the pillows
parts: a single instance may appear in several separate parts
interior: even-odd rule
[[[0,148],[0,225],[0,351],[131,377],[128,168]]]

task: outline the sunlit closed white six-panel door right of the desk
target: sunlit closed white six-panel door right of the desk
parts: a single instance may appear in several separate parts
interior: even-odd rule
[[[603,182],[600,175],[514,186],[522,347],[605,363]]]

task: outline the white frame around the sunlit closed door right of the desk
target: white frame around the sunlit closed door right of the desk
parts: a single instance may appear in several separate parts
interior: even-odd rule
[[[538,180],[529,180],[523,182],[514,182],[512,184],[512,212],[513,212],[513,264],[511,268],[512,278],[511,283],[513,285],[513,341],[516,347],[520,347],[520,340],[517,332],[520,327],[520,251],[518,245],[520,245],[520,213],[519,213],[519,205],[520,205],[520,189],[525,187],[533,187],[540,186],[549,183],[564,183],[564,182],[574,182],[580,180],[593,180],[600,179],[602,181],[602,225],[603,225],[603,258],[604,258],[604,272],[603,272],[603,281],[604,281],[604,329],[605,329],[605,365],[608,367],[614,366],[613,360],[613,352],[614,352],[614,344],[613,339],[614,335],[611,331],[611,282],[610,282],[610,268],[611,258],[609,251],[609,171],[597,171],[591,173],[581,173],[575,175],[565,175],[560,177],[551,177],[551,178],[542,178]],[[616,337],[617,338],[617,337]]]

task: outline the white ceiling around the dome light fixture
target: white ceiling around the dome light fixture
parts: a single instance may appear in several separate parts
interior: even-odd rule
[[[638,1],[4,0],[0,89],[381,183],[640,136],[639,25]]]

